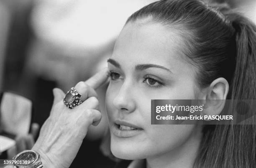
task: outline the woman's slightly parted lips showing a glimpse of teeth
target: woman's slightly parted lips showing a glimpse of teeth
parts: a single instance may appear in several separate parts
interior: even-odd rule
[[[111,130],[115,136],[124,138],[138,135],[143,129],[129,122],[116,120],[113,123]]]

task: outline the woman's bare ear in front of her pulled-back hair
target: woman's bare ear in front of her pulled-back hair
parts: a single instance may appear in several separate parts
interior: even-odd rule
[[[228,95],[228,81],[218,78],[212,81],[204,94],[204,115],[219,115],[225,106]]]

